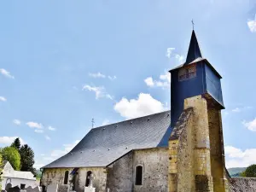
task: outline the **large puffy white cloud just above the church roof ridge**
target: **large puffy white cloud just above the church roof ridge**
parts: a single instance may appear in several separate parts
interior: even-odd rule
[[[140,93],[137,99],[130,101],[123,97],[114,105],[114,110],[126,119],[159,113],[165,110],[164,105],[150,94]]]

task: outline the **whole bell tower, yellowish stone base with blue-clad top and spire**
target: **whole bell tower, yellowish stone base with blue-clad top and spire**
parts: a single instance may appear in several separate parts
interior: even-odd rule
[[[186,61],[171,71],[169,192],[226,192],[222,77],[193,29]]]

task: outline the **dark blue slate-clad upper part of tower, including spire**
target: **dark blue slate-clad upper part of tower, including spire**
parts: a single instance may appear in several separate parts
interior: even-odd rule
[[[183,111],[184,99],[205,96],[212,104],[224,108],[220,79],[222,77],[201,55],[201,49],[193,30],[186,62],[170,71],[171,83],[171,126]]]

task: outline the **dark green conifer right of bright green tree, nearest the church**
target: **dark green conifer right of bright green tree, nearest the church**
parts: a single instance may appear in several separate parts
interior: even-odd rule
[[[34,152],[27,144],[20,148],[20,171],[34,172]]]

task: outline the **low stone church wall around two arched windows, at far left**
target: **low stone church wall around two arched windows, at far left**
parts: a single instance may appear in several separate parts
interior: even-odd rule
[[[44,169],[43,176],[41,179],[41,185],[48,186],[51,183],[63,184],[66,171],[70,173],[73,171],[73,168]],[[78,186],[75,186],[76,191],[84,192],[86,175],[88,171],[91,171],[95,176],[93,186],[96,188],[96,192],[105,192],[106,182],[107,182],[107,172],[104,167],[79,168]]]

